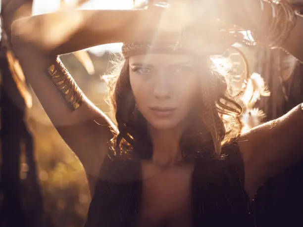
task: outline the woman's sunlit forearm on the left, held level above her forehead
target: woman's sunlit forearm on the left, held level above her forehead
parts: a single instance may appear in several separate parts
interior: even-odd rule
[[[157,15],[158,13],[158,15]],[[53,54],[64,54],[95,45],[151,41],[160,12],[148,10],[70,10],[16,20],[13,43],[30,43]],[[157,39],[172,39],[170,25]]]

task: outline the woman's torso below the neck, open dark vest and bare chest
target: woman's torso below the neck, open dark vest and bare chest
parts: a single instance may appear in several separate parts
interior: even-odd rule
[[[244,168],[237,154],[168,169],[108,159],[86,226],[248,226]]]

